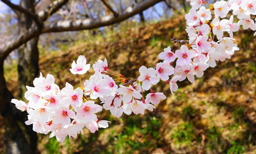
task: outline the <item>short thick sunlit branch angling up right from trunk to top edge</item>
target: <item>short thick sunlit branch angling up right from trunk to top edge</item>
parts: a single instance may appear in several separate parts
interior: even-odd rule
[[[61,6],[67,3],[69,0],[56,0],[50,6],[48,6],[45,10],[38,12],[38,17],[41,21],[46,21],[46,19],[58,11]]]

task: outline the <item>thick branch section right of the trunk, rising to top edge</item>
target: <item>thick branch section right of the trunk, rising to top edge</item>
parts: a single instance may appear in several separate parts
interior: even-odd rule
[[[78,30],[85,30],[85,29],[94,29],[99,28],[103,26],[109,26],[121,21],[124,21],[125,19],[128,19],[129,17],[134,16],[135,14],[138,14],[146,9],[148,9],[151,6],[154,6],[154,4],[157,4],[162,0],[144,0],[134,7],[128,7],[123,12],[119,12],[118,17],[114,17],[112,14],[108,16],[104,16],[102,18],[97,19],[84,19],[84,20],[75,20],[75,21],[59,21],[56,23],[46,23],[44,27],[42,28],[42,33],[49,33],[49,32],[60,32],[60,31],[78,31]]]

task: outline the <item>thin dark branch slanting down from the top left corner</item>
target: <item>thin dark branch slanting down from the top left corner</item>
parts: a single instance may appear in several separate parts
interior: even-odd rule
[[[40,26],[42,24],[42,22],[38,19],[36,14],[34,14],[33,12],[31,12],[27,9],[24,9],[23,7],[21,7],[19,5],[15,5],[15,4],[11,3],[11,1],[9,1],[9,0],[1,0],[1,1],[4,2],[6,5],[8,5],[11,9],[20,11],[24,14],[27,14],[28,16],[31,16],[37,26]]]

